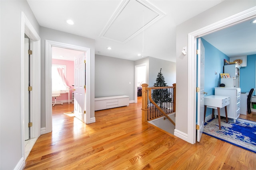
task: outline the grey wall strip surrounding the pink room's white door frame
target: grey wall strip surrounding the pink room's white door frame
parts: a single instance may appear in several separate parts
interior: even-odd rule
[[[87,47],[91,49],[91,70],[90,70],[90,83],[91,83],[91,101],[94,101],[94,58],[95,58],[95,41],[94,39],[49,29],[46,27],[40,27],[41,37],[41,128],[46,127],[45,120],[45,40],[56,41],[59,43],[65,43],[70,45],[77,45],[80,47]],[[94,117],[94,102],[91,102],[90,117]]]

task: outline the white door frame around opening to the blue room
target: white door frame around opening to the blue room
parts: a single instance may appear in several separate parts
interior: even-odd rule
[[[250,8],[224,20],[188,33],[188,138],[187,142],[196,143],[196,39],[219,31],[256,16],[256,7]],[[200,74],[198,74],[200,76]]]

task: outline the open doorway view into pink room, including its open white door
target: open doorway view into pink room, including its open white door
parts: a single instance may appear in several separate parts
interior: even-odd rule
[[[66,115],[76,116],[83,122],[86,121],[84,113],[75,112],[86,111],[84,104],[86,100],[80,98],[85,96],[85,56],[86,53],[83,51],[52,47],[52,113],[67,110]],[[78,57],[81,59],[77,60]],[[79,62],[81,67],[77,69]],[[81,85],[78,85],[79,82]],[[80,95],[76,96],[79,90]]]

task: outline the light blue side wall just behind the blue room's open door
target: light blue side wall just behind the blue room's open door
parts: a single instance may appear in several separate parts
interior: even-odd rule
[[[202,38],[201,38],[202,39]],[[202,39],[205,49],[204,61],[204,92],[214,95],[214,88],[220,85],[220,73],[223,73],[224,59],[229,57],[216,49],[213,45]],[[215,74],[217,72],[217,74]],[[254,61],[254,85],[255,85],[255,61]],[[212,114],[212,109],[206,109],[206,117]]]

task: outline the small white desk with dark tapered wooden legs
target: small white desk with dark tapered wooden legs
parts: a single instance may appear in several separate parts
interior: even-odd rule
[[[219,129],[221,130],[220,126],[220,108],[225,107],[226,112],[226,122],[228,123],[228,113],[227,113],[227,105],[230,104],[230,98],[228,96],[216,96],[210,95],[204,97],[204,119],[206,114],[206,108],[212,108],[218,110],[218,119],[219,119]]]

